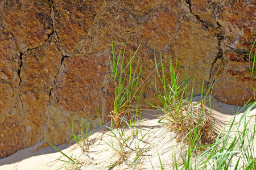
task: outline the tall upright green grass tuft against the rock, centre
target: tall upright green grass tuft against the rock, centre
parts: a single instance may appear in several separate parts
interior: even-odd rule
[[[135,57],[135,54],[137,53],[139,46],[141,44],[139,44],[133,57],[130,56],[130,60],[127,63],[127,65],[126,66],[124,65],[127,41],[125,44],[125,48],[123,49],[122,55],[121,55],[122,48],[120,49],[119,55],[117,57],[117,61],[115,61],[113,41],[112,41],[112,58],[110,57],[110,54],[109,54],[110,66],[112,68],[112,74],[113,74],[114,86],[115,86],[114,110],[110,112],[110,114],[115,122],[115,126],[117,127],[119,127],[120,125],[119,124],[120,118],[126,113],[128,114],[127,116],[129,119],[130,105],[131,105],[131,102],[133,101],[134,95],[138,90],[138,81],[143,72],[142,67],[140,69],[138,67],[139,59],[137,61],[137,66],[134,72],[132,71],[132,65],[131,65]],[[121,61],[121,68],[119,68],[119,61]],[[128,70],[129,78],[127,78],[126,69]]]

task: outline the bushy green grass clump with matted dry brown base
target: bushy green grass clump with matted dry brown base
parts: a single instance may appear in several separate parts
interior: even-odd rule
[[[194,138],[196,134],[195,141],[199,143],[199,145],[213,143],[217,135],[213,129],[213,117],[204,107],[208,100],[206,101],[202,98],[203,88],[200,102],[192,103],[193,88],[191,100],[188,101],[188,99],[184,99],[185,96],[188,96],[187,87],[189,86],[186,71],[185,81],[180,83],[179,73],[177,73],[176,70],[177,63],[173,66],[170,57],[170,83],[167,83],[162,56],[160,56],[159,65],[160,69],[158,68],[155,56],[155,70],[163,86],[163,92],[156,88],[163,107],[156,108],[166,113],[166,116],[161,118],[159,123],[166,124],[168,128],[174,132],[177,142],[188,144],[191,138]],[[207,94],[208,93],[209,90]]]

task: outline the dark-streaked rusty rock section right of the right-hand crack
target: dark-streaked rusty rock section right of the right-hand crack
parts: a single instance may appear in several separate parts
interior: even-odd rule
[[[256,39],[256,2],[220,1],[215,11],[224,37],[224,68],[216,78],[214,93],[224,103],[243,105],[253,97],[249,51]]]

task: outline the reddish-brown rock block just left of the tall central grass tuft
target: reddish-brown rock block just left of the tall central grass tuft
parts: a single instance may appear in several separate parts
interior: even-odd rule
[[[104,113],[106,102],[102,83],[109,65],[109,56],[98,53],[92,56],[64,59],[64,70],[56,84],[55,95],[64,111],[80,116],[85,111],[96,116],[97,105]],[[71,95],[72,94],[72,95]],[[104,116],[103,116],[104,117]]]

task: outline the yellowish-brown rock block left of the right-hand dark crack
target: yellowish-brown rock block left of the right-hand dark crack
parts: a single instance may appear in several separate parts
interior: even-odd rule
[[[180,81],[185,78],[184,69],[187,69],[188,78],[196,75],[193,93],[199,95],[201,88],[211,83],[210,71],[219,52],[218,37],[209,29],[204,29],[190,14],[185,15],[180,23],[179,32],[170,48],[172,61],[177,61]],[[202,84],[203,80],[205,84]]]

